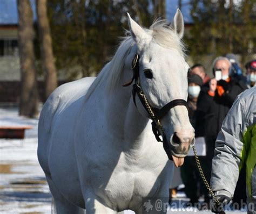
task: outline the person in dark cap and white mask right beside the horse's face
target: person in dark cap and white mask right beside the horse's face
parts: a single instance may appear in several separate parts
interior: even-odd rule
[[[188,116],[193,127],[196,125],[197,116],[195,114],[197,110],[197,99],[203,85],[203,80],[196,74],[190,74],[188,76]],[[199,156],[201,165],[205,165],[204,156]],[[185,185],[184,191],[190,201],[187,206],[195,206],[198,203],[200,193],[208,197],[207,189],[204,187],[204,183],[201,180],[200,174],[197,170],[197,163],[194,156],[186,156],[184,165],[181,167],[181,178]],[[198,188],[199,187],[199,188]]]

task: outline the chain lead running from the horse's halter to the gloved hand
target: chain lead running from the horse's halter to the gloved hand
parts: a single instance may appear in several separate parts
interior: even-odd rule
[[[152,111],[151,107],[150,107],[150,104],[149,102],[147,102],[147,98],[146,96],[143,94],[142,91],[139,92],[139,95],[142,96],[143,98],[143,101],[146,105],[146,108],[147,108],[147,111],[150,113],[150,117],[157,121],[157,125],[158,127],[161,129],[161,131],[164,133],[164,128],[163,126],[161,125],[161,122],[160,120],[156,120],[156,117],[154,116],[154,112]],[[200,176],[201,178],[203,179],[204,181],[204,184],[205,184],[205,187],[207,188],[208,192],[209,192],[209,195],[213,198],[214,202],[217,203],[217,205],[220,205],[220,202],[219,202],[219,199],[214,195],[210,185],[208,184],[206,178],[205,178],[205,175],[204,175],[204,172],[203,172],[203,169],[201,167],[201,164],[200,164],[200,161],[199,161],[199,158],[198,158],[198,155],[197,155],[197,151],[196,151],[196,148],[194,146],[192,146],[192,149],[193,149],[193,153],[194,153],[194,158],[196,159],[196,162],[197,162],[197,167],[198,167],[198,170],[199,170],[199,173],[200,173]],[[225,212],[223,210],[221,210],[219,212],[220,214],[225,214]]]

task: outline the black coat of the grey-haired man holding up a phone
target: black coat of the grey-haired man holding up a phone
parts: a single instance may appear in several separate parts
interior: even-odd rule
[[[237,95],[244,91],[243,85],[236,80],[230,82],[222,80],[218,84],[223,85],[225,89],[222,96],[219,96],[217,90],[215,96],[210,96],[208,94],[209,83],[206,83],[201,88],[197,102],[196,137],[205,137],[207,156],[210,159],[213,157],[215,139],[221,129],[221,124]]]

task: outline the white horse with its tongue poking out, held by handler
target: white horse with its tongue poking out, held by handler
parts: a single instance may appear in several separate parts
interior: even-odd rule
[[[144,202],[153,204],[158,197],[167,202],[173,162],[166,153],[180,166],[193,141],[187,109],[176,105],[161,118],[170,147],[165,152],[138,95],[135,105],[132,86],[122,86],[132,79],[137,53],[137,81],[152,108],[187,98],[181,12],[177,10],[171,26],[157,22],[146,30],[129,14],[128,22],[131,36],[96,79],[61,85],[43,106],[38,160],[57,213],[83,213],[85,208],[89,214],[126,209],[142,213]]]

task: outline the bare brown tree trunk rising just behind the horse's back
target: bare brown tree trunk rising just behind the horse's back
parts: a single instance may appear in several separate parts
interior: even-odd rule
[[[44,71],[45,99],[57,88],[57,71],[52,52],[52,39],[47,17],[47,0],[37,0],[38,33],[40,39],[41,62]]]

